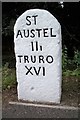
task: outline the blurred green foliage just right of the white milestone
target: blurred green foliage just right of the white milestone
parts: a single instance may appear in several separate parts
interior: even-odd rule
[[[67,48],[62,52],[63,76],[80,76],[80,51],[75,51],[73,59],[67,57]]]

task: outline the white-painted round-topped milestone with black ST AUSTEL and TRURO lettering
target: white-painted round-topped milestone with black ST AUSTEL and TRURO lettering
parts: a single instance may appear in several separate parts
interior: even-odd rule
[[[46,10],[24,12],[14,27],[18,99],[60,103],[61,27]]]

